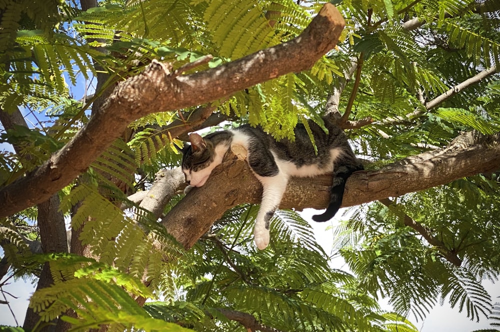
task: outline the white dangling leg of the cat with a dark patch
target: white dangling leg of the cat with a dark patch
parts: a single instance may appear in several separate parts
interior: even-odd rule
[[[264,177],[256,175],[262,184],[262,202],[257,212],[255,228],[253,230],[253,240],[258,249],[262,250],[269,244],[269,223],[274,212],[281,202],[288,176],[284,173],[278,173],[275,176]]]

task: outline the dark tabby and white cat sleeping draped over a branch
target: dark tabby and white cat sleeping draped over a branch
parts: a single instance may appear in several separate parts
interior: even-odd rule
[[[363,166],[354,156],[342,130],[327,117],[323,121],[328,134],[309,120],[317,154],[302,124],[294,130],[294,142],[287,139],[276,142],[260,127],[250,125],[214,132],[205,137],[190,134],[191,145],[186,145],[182,150],[182,171],[188,184],[186,192],[192,187],[204,185],[211,171],[222,162],[231,144],[239,144],[248,151],[247,162],[263,188],[253,231],[258,249],[265,249],[269,243],[269,221],[279,206],[291,176],[312,177],[333,173],[328,207],[323,214],[312,217],[317,222],[331,219],[342,203],[345,181]]]

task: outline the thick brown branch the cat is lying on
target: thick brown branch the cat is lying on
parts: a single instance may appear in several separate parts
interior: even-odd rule
[[[500,165],[500,134],[464,135],[435,153],[406,158],[376,171],[360,171],[348,180],[342,206],[353,206],[427,189]],[[468,143],[467,143],[468,142]],[[292,178],[280,208],[324,209],[331,176]],[[242,158],[229,156],[208,182],[194,188],[161,223],[185,248],[190,248],[222,214],[242,203],[260,203],[261,186]]]

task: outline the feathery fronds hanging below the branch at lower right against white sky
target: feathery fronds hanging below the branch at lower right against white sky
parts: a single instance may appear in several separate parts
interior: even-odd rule
[[[343,231],[337,231],[337,243],[350,269],[356,275],[364,276],[361,278],[362,287],[373,292],[374,296],[388,296],[394,309],[403,316],[411,313],[417,319],[423,319],[438,298],[444,301],[448,297],[452,307],[466,312],[471,319],[488,316],[491,299],[481,280],[495,280],[498,270],[493,267],[484,269],[479,253],[490,249],[483,247],[478,239],[493,231],[488,222],[490,217],[482,213],[466,218],[464,215],[465,210],[469,213],[475,211],[475,208],[469,210],[471,205],[489,206],[491,198],[482,195],[482,189],[476,187],[475,190],[479,191],[478,196],[468,206],[463,204],[461,194],[450,196],[443,190],[430,190],[411,195],[390,209],[372,206],[365,210],[364,216],[353,216],[346,224],[348,228],[344,226]],[[454,210],[449,206],[443,209],[445,204],[451,203],[441,200],[444,197],[446,200],[454,197]],[[413,214],[421,209],[421,204],[430,204],[435,212],[432,215]],[[435,236],[449,247],[432,248],[420,243],[411,235],[412,230],[403,226],[405,214],[433,230]],[[365,218],[363,223],[360,222],[362,217]],[[468,223],[470,226],[465,226]],[[351,229],[362,230],[364,237],[347,237]],[[450,266],[443,259],[443,250],[458,253],[465,260],[462,267]]]

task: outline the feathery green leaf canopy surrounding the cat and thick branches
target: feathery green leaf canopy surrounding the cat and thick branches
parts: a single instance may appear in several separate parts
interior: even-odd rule
[[[494,1],[334,2],[346,20],[337,49],[310,70],[216,101],[214,112],[293,140],[297,123],[313,119],[321,125],[327,97],[334,88],[341,90],[340,113],[351,100],[349,120],[373,120],[347,132],[356,152],[370,161],[367,169],[444,146],[460,131],[498,132],[497,73],[438,107],[426,107],[458,83],[499,67],[499,32],[488,28],[498,9]],[[1,132],[1,143],[14,145],[16,152],[1,152],[0,185],[29,176],[85,125],[87,109],[97,99],[81,102],[72,94],[78,85],[91,90],[97,74],[109,78],[98,82],[94,98],[152,59],[179,68],[211,54],[212,61],[188,72],[215,67],[297,37],[323,3],[103,0],[81,11],[59,1],[0,1],[0,111],[29,107],[32,114],[50,117]],[[407,28],[413,18],[417,23]],[[191,109],[155,111],[130,124],[127,141],[115,141],[59,193],[60,210],[80,231],[77,240],[92,258],[33,257],[24,236],[38,235],[22,227],[25,220],[34,223],[35,208],[0,221],[0,244],[11,271],[37,274],[41,264],[51,267],[54,285],[31,300],[43,321],[62,316],[74,331],[99,325],[110,331],[177,331],[178,325],[244,331],[224,315],[229,310],[282,331],[412,332],[408,316],[423,319],[445,302],[471,319],[497,318],[498,307],[480,281],[495,281],[500,274],[498,174],[405,195],[390,208],[377,203],[352,208],[332,240],[349,273],[331,267],[308,222],[294,211],[276,213],[271,244],[257,251],[252,236],[257,207],[250,205],[227,211],[186,252],[155,216],[127,199],[135,188],[147,190],[160,168],[179,164],[176,146],[182,143],[165,127]],[[162,212],[181,197],[174,196]],[[405,217],[442,245],[427,243],[405,226]],[[462,261],[460,267],[446,260],[450,253]],[[137,297],[155,302],[141,308]],[[395,313],[380,310],[381,297]],[[78,318],[64,317],[68,309]]]

